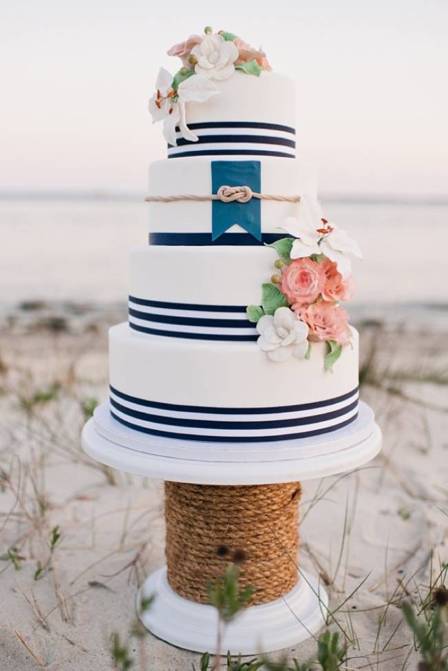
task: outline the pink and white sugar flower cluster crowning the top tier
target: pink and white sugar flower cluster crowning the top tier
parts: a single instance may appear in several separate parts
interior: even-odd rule
[[[185,41],[173,45],[167,52],[178,56],[182,68],[172,75],[160,68],[156,80],[156,93],[149,101],[153,123],[163,121],[163,134],[169,145],[176,145],[175,128],[190,142],[198,136],[186,125],[186,103],[204,103],[219,93],[213,79],[222,81],[235,70],[259,76],[271,70],[262,48],[254,49],[241,37],[220,30],[213,33],[207,26],[202,35],[190,35]]]

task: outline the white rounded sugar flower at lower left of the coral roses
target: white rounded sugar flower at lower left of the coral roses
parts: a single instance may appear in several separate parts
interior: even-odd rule
[[[308,349],[308,326],[288,307],[279,307],[274,316],[264,315],[257,322],[258,347],[273,361],[290,356],[303,358]]]

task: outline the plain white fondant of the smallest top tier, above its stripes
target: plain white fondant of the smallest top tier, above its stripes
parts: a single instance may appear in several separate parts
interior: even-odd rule
[[[213,83],[219,94],[206,103],[187,103],[187,124],[259,121],[295,127],[295,83],[284,74],[262,72],[257,77],[237,71]]]

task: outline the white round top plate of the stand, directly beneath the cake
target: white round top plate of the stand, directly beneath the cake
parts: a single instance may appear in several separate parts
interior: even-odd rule
[[[364,403],[343,429],[312,438],[217,444],[143,435],[96,410],[82,435],[87,454],[120,471],[171,482],[250,485],[294,482],[351,471],[380,451],[381,431]],[[245,467],[246,466],[246,467]]]

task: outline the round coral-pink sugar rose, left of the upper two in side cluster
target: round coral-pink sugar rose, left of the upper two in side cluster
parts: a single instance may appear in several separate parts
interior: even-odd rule
[[[281,291],[297,305],[314,302],[323,291],[325,272],[320,263],[310,258],[291,261],[281,276]]]

